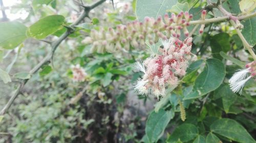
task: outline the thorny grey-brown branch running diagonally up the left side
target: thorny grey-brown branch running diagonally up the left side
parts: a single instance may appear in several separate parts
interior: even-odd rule
[[[82,14],[77,18],[77,20],[72,23],[70,25],[71,28],[68,28],[67,31],[62,34],[56,41],[53,41],[51,43],[51,47],[52,47],[52,50],[51,52],[49,52],[45,58],[40,62],[38,63],[32,70],[30,70],[30,74],[34,74],[36,73],[43,65],[48,65],[50,62],[51,62],[51,58],[53,57],[54,55],[54,52],[55,50],[57,49],[57,47],[59,46],[59,44],[65,40],[70,34],[72,34],[74,31],[72,30],[72,28],[74,29],[75,26],[77,24],[79,24],[84,18],[88,17],[89,15],[89,12],[98,7],[99,5],[101,5],[102,3],[104,3],[106,0],[100,0],[98,2],[96,2],[95,4],[91,5],[91,6],[83,6],[84,10],[82,12]],[[8,103],[5,105],[5,107],[1,110],[1,113],[0,113],[0,116],[3,116],[5,115],[5,113],[7,112],[7,110],[10,108],[11,104],[13,103],[13,101],[15,100],[15,98],[19,95],[20,91],[22,91],[24,85],[27,83],[29,79],[24,79],[22,80],[22,82],[18,85],[18,88],[15,90],[14,94],[12,95],[12,97],[9,99]]]

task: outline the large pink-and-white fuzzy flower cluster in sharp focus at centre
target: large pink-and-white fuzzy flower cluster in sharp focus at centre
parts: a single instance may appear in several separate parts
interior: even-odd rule
[[[157,98],[165,95],[165,86],[177,85],[179,77],[186,74],[189,61],[196,61],[197,56],[191,56],[192,38],[183,42],[176,38],[162,40],[161,54],[150,56],[144,62],[136,63],[135,68],[144,72],[142,79],[134,85],[134,89],[142,95],[154,94]]]

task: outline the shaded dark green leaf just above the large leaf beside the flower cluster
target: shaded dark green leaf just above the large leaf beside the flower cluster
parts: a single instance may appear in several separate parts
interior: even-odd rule
[[[214,58],[222,60],[220,51],[227,52],[230,50],[229,35],[227,33],[219,33],[210,39],[210,47]]]

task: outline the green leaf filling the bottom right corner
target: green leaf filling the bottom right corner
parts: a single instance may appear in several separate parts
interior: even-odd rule
[[[255,142],[246,129],[231,119],[219,119],[210,125],[210,130],[238,142]]]

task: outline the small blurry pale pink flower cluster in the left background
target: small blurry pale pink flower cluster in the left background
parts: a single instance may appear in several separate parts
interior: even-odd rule
[[[74,82],[82,82],[86,79],[87,73],[84,71],[80,65],[72,65],[71,70],[73,73],[73,81]]]

